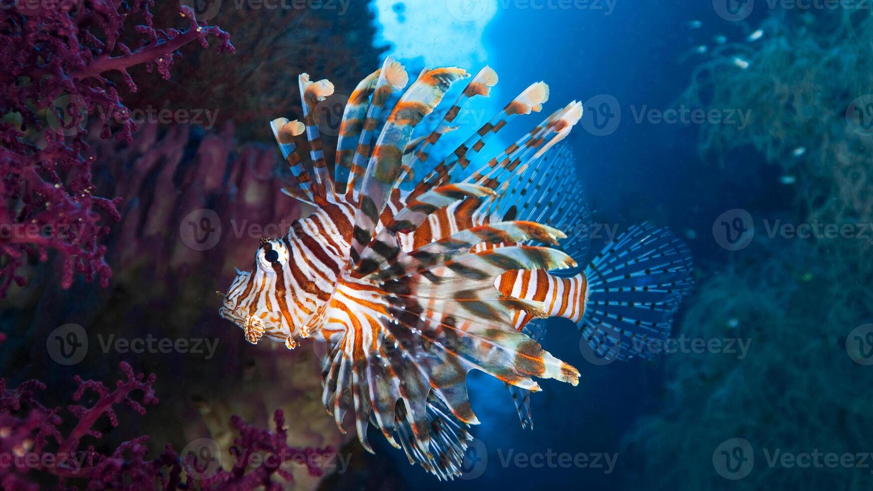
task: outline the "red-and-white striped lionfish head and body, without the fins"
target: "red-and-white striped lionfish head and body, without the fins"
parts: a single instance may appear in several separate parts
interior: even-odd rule
[[[355,205],[345,196],[333,198],[312,215],[293,222],[281,239],[263,241],[256,259],[262,267],[256,268],[254,274],[240,276],[231,286],[227,297],[234,301],[222,307],[221,315],[244,325],[245,336],[251,342],[257,343],[265,336],[295,347],[297,338],[314,335],[327,341],[337,332],[337,326],[330,319],[325,322],[321,315],[328,303],[346,310],[344,301],[331,302],[338,284],[354,289],[355,282],[344,280],[341,272],[350,256]],[[388,204],[388,211],[395,214],[406,208],[405,201],[405,197],[395,196]],[[431,214],[428,222],[415,232],[397,236],[402,252],[409,253],[434,241],[435,237],[450,236],[469,228],[478,228],[483,235],[502,233],[502,230],[487,227],[489,218],[471,216],[463,209],[457,210],[457,206],[442,208]],[[380,221],[376,231],[384,226]],[[512,239],[507,237],[507,240]],[[543,269],[510,270],[494,282],[505,297],[544,303],[547,317],[565,317],[574,322],[579,322],[584,313],[586,284],[584,272],[565,278]],[[354,297],[346,299],[356,303]],[[367,305],[364,302],[361,307]],[[384,315],[384,312],[379,314]],[[430,315],[438,316],[439,312]],[[520,331],[533,318],[536,318],[533,314],[518,310],[512,315],[512,325]],[[339,332],[345,329],[347,326],[342,325]]]

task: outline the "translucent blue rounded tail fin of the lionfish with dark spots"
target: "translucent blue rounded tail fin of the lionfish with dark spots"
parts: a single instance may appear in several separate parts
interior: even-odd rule
[[[650,340],[670,336],[691,271],[688,246],[667,228],[646,222],[610,242],[585,270],[582,336],[596,356],[650,358]]]

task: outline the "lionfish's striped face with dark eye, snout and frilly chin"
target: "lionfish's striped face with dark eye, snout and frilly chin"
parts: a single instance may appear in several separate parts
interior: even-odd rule
[[[262,241],[255,254],[255,269],[237,269],[237,276],[224,295],[219,315],[237,324],[251,344],[258,343],[264,335],[286,343],[291,337],[288,327],[282,324],[276,289],[277,277],[282,277],[283,264],[289,256],[281,241]]]

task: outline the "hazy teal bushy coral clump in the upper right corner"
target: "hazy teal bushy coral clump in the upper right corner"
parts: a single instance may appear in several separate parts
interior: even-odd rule
[[[692,75],[682,97],[690,106],[752,111],[743,129],[701,125],[700,153],[724,163],[753,147],[804,177],[797,204],[809,219],[870,220],[873,140],[847,124],[847,110],[873,86],[873,60],[863,54],[873,17],[864,9],[784,13],[760,30],[756,43],[718,46]]]

